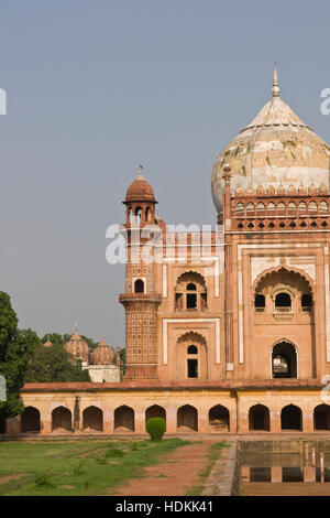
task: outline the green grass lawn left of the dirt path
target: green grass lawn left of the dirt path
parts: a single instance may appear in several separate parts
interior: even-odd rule
[[[0,442],[0,496],[111,494],[118,484],[143,476],[143,467],[157,463],[160,455],[188,443],[180,439]]]

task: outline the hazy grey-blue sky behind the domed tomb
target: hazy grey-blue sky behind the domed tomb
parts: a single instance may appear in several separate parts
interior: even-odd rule
[[[213,224],[217,155],[280,95],[330,142],[330,2],[0,0],[0,290],[21,327],[124,345],[106,229],[144,165],[166,223]]]

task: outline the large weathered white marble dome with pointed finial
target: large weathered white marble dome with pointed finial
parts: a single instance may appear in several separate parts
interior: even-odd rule
[[[212,196],[222,220],[224,183],[222,168],[231,168],[231,192],[240,186],[256,190],[270,185],[276,190],[289,185],[297,190],[326,185],[329,191],[330,148],[279,97],[274,67],[271,100],[220,153],[212,172]]]

